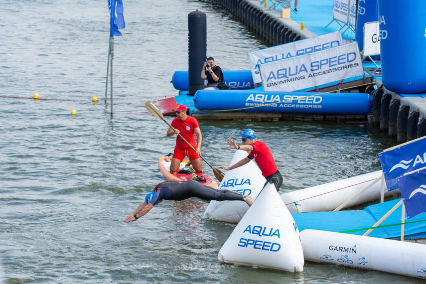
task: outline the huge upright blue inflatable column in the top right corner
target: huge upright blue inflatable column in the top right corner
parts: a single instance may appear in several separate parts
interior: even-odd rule
[[[426,92],[425,14],[425,0],[379,0],[382,80],[392,92]]]

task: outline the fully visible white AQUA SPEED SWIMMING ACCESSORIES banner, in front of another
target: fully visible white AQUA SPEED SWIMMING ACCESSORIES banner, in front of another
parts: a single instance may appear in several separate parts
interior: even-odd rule
[[[265,91],[292,92],[363,75],[358,43],[259,65]]]

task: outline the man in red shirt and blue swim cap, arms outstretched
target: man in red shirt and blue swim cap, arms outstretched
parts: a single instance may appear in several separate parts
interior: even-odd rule
[[[275,164],[271,150],[264,142],[258,141],[256,139],[256,134],[253,129],[246,129],[241,135],[241,139],[243,140],[243,145],[237,145],[234,139],[228,138],[226,140],[226,142],[229,144],[227,148],[251,151],[249,155],[230,167],[219,167],[225,170],[231,170],[245,165],[254,158],[260,170],[262,171],[262,175],[266,178],[266,182],[272,182],[277,188],[277,191],[279,191],[280,186],[283,184],[283,176]]]

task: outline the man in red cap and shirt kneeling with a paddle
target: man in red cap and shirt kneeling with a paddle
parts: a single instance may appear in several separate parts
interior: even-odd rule
[[[176,114],[176,118],[171,122],[171,126],[167,130],[167,137],[176,134],[176,146],[174,147],[173,157],[171,159],[170,171],[175,172],[179,169],[180,162],[183,161],[185,156],[189,158],[192,163],[192,167],[196,172],[202,171],[202,165],[199,154],[201,154],[201,130],[198,125],[198,121],[186,115],[186,107],[179,105],[176,109],[173,109]],[[187,142],[189,142],[195,149],[195,152],[191,147],[184,142],[179,136],[180,134]],[[197,144],[195,145],[195,135],[197,136]]]

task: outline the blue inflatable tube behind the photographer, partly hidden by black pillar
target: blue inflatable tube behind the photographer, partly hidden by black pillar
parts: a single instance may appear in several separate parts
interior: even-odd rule
[[[230,88],[252,89],[255,87],[253,85],[252,70],[223,70],[222,72],[225,83]],[[176,90],[188,90],[188,71],[175,71],[171,82]]]

